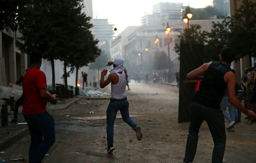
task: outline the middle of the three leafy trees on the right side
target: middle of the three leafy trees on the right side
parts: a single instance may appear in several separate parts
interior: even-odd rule
[[[219,61],[219,54],[224,47],[231,45],[231,18],[221,16],[222,21],[212,22],[211,32],[207,33],[207,44],[204,46],[204,61]]]

